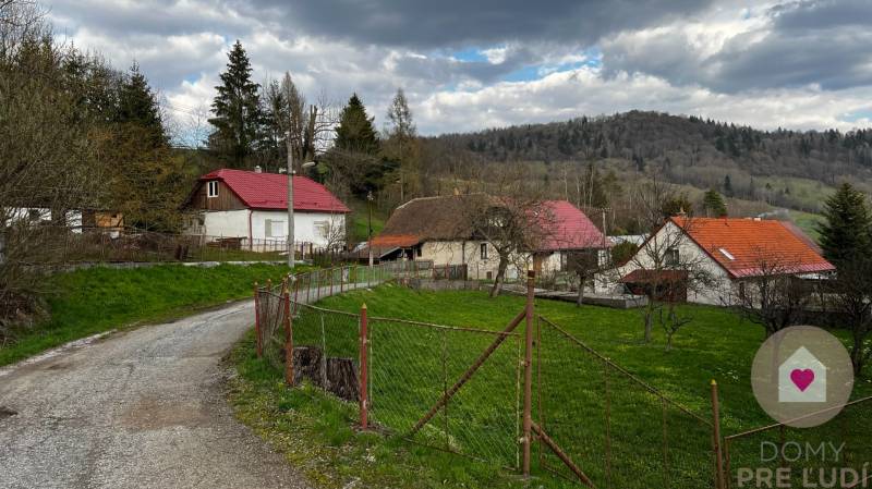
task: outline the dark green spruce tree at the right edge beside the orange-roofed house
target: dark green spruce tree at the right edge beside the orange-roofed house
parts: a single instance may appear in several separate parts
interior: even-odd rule
[[[843,183],[826,199],[823,213],[826,221],[819,230],[826,259],[839,267],[869,255],[872,245],[872,213],[862,192],[853,188],[850,183]]]

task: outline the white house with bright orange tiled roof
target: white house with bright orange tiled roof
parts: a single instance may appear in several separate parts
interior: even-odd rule
[[[780,221],[756,218],[673,217],[619,269],[619,286],[638,291],[663,276],[670,281],[693,280],[678,265],[693,262],[706,272],[710,283],[682,288],[687,295],[682,298],[728,305],[755,278],[784,274],[819,280],[834,272],[835,267],[800,233]],[[654,264],[651,250],[658,247],[664,259]]]

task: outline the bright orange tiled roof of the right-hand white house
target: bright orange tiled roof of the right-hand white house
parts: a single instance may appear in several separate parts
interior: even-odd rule
[[[671,221],[734,278],[835,270],[803,239],[779,221],[683,218]]]

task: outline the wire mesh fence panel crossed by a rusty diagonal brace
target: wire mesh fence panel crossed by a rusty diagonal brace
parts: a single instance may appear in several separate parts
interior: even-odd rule
[[[371,318],[372,417],[416,443],[518,467],[520,347],[517,333]]]

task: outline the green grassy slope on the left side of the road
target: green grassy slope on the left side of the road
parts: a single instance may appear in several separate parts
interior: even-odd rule
[[[159,321],[193,309],[250,297],[255,280],[278,279],[283,266],[222,265],[215,268],[161,265],[92,268],[46,280],[51,317],[0,347],[0,365],[113,328]]]

